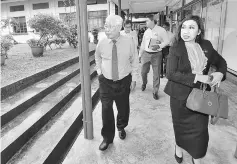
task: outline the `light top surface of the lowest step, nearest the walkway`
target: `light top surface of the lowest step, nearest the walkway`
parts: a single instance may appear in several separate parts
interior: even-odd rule
[[[98,89],[98,80],[91,84],[91,95]],[[9,163],[42,164],[82,111],[81,94],[64,107]]]

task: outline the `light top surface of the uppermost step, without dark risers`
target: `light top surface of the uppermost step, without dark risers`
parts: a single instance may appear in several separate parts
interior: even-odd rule
[[[90,57],[90,61],[92,60],[94,60],[94,56]],[[73,64],[72,66],[64,70],[51,75],[48,78],[45,78],[33,84],[32,86],[27,87],[26,89],[14,94],[13,96],[4,99],[3,101],[1,101],[1,116],[78,69],[79,64]]]

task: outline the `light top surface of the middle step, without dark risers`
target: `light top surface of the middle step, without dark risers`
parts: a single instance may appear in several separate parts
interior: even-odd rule
[[[94,72],[94,66],[92,65],[91,73]],[[62,100],[67,94],[75,89],[80,83],[80,74],[69,80],[64,85],[60,86],[40,102],[31,106],[21,115],[17,116],[14,120],[6,124],[1,131],[2,146],[1,150],[4,150],[13,141],[15,141],[20,135],[22,135],[27,129],[29,129],[34,123],[36,123],[42,116],[44,116],[52,107],[54,107],[60,100]]]

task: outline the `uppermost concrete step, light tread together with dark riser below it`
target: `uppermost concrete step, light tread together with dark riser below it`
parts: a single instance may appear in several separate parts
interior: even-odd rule
[[[90,64],[94,64],[94,55]],[[79,63],[76,63],[54,75],[35,83],[24,90],[1,101],[1,126],[4,126],[30,106],[39,102],[53,90],[66,83],[80,73]]]

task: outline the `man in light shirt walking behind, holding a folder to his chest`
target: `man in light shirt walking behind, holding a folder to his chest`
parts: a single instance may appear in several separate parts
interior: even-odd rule
[[[160,72],[162,60],[162,48],[168,43],[169,39],[167,32],[163,27],[157,25],[157,20],[153,15],[148,16],[146,22],[147,30],[145,31],[139,51],[139,60],[142,63],[141,76],[142,76],[142,91],[146,89],[147,74],[150,71],[150,65],[153,69],[153,98],[159,99],[158,91],[160,87]],[[156,40],[156,45],[150,47],[151,40]]]

